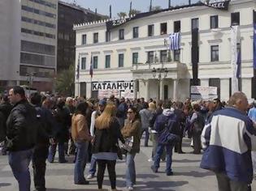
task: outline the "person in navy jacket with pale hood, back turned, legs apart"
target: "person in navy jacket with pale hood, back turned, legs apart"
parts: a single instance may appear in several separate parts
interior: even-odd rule
[[[171,170],[172,162],[172,150],[176,142],[179,141],[180,129],[174,114],[174,109],[171,108],[170,103],[163,103],[163,113],[158,115],[154,122],[154,129],[158,132],[158,146],[156,149],[156,154],[154,155],[154,164],[151,166],[151,169],[154,173],[158,172],[160,167],[160,158],[163,154],[164,148],[167,152],[167,167],[166,174],[167,176],[173,175]]]

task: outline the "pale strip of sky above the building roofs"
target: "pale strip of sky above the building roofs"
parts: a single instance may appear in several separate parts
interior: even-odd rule
[[[74,0],[62,0],[64,2],[74,2]],[[197,2],[198,0],[192,0],[191,2]],[[112,16],[117,17],[116,14],[124,11],[128,12],[131,0],[76,0],[76,4],[89,8],[92,11],[97,11],[102,15],[109,15],[109,6],[112,6]],[[171,0],[171,5],[183,5],[187,4],[189,0]],[[167,8],[168,0],[152,0],[153,6],[161,6]],[[132,0],[132,8],[145,12],[149,10],[150,0]]]

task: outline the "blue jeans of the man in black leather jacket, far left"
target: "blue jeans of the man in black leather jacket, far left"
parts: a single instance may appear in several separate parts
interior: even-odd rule
[[[28,169],[32,159],[33,149],[25,151],[10,151],[9,164],[15,179],[18,180],[20,191],[30,190],[30,172]]]

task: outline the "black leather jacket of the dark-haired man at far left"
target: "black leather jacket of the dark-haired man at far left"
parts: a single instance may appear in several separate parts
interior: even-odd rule
[[[32,149],[37,139],[37,112],[27,100],[21,100],[11,109],[7,119],[7,149]]]

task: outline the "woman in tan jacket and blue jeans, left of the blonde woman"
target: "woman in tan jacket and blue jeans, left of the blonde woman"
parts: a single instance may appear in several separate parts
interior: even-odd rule
[[[76,112],[72,116],[72,139],[76,145],[76,163],[74,172],[74,182],[76,185],[89,185],[85,180],[85,164],[88,153],[89,141],[92,137],[89,135],[88,124],[86,121],[86,112],[88,104],[81,102],[76,106]]]

